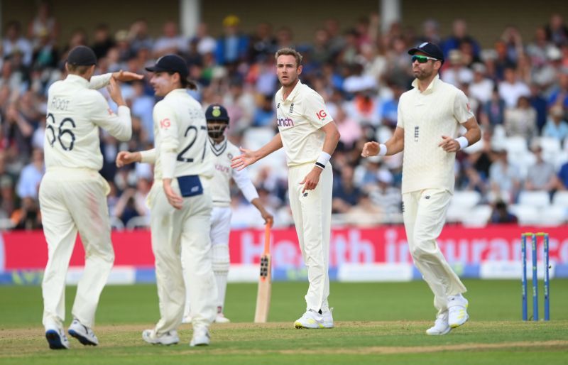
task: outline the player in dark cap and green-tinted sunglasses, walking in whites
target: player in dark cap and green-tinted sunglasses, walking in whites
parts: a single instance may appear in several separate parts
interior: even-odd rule
[[[398,103],[398,124],[386,143],[365,143],[361,156],[404,150],[403,219],[415,266],[434,293],[435,325],[427,334],[447,334],[469,318],[464,284],[447,263],[436,239],[454,192],[456,153],[476,143],[481,130],[464,92],[439,80],[444,54],[432,43],[408,51],[416,79]],[[459,126],[466,133],[457,137]]]

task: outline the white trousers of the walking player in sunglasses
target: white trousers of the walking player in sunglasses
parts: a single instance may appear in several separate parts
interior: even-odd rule
[[[439,250],[436,239],[442,232],[452,195],[447,190],[427,189],[403,194],[403,219],[410,254],[434,293],[434,306],[445,312],[447,297],[465,293],[466,287]]]

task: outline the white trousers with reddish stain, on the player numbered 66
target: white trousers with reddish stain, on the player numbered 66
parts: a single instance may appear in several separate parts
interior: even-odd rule
[[[77,239],[85,252],[77,284],[73,317],[94,327],[94,313],[114,262],[107,194],[110,188],[95,170],[50,168],[40,183],[43,234],[48,264],[43,273],[43,325],[62,328],[65,321],[65,276]]]

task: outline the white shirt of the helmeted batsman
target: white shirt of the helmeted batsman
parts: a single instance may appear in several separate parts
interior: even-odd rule
[[[241,154],[239,148],[227,141],[226,138],[219,144],[213,142],[211,144],[215,166],[211,189],[213,206],[229,207],[231,205],[231,190],[229,188],[231,179],[236,182],[246,200],[252,202],[254,198],[258,197],[258,192],[256,192],[256,187],[249,178],[246,168],[240,171],[231,168],[231,160]]]

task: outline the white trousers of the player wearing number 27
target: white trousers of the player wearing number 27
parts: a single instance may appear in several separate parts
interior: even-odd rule
[[[161,180],[154,182],[148,195],[160,303],[160,320],[155,325],[158,336],[178,329],[182,322],[184,275],[192,293],[193,326],[209,327],[217,314],[217,285],[209,239],[212,200],[207,179],[201,178],[201,182],[203,194],[183,198],[182,209],[170,205]],[[178,180],[172,180],[172,187],[180,195]],[[182,271],[182,256],[185,273]]]

